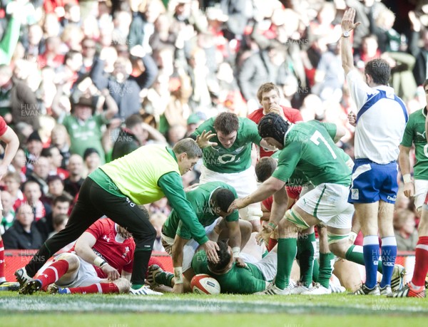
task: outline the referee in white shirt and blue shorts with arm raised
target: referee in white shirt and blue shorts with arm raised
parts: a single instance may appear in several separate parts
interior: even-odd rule
[[[399,143],[407,123],[403,101],[387,86],[391,68],[383,59],[373,59],[365,66],[365,81],[355,70],[350,33],[355,9],[348,9],[342,19],[342,66],[352,99],[357,104],[355,126],[355,166],[348,202],[355,205],[355,215],[364,235],[363,254],[366,281],[356,295],[391,293],[391,276],[397,255],[392,218],[397,197],[397,158]],[[382,249],[379,251],[379,234]],[[382,281],[377,285],[377,261],[382,257]]]

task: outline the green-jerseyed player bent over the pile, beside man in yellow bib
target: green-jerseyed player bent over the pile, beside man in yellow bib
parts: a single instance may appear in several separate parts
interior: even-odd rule
[[[187,192],[186,197],[210,239],[217,241],[220,231],[223,231],[223,236],[229,239],[233,247],[233,256],[238,258],[240,249],[250,238],[252,226],[250,222],[239,219],[238,210],[231,214],[227,212],[230,204],[238,197],[235,189],[225,182],[207,182]],[[218,217],[223,219],[216,225]],[[199,245],[191,239],[188,227],[174,209],[163,224],[161,237],[165,251],[173,256],[176,276],[173,292],[191,291],[190,280],[194,273],[190,266]]]

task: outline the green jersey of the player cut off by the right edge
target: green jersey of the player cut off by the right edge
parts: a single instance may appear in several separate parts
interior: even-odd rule
[[[412,147],[414,143],[414,153],[416,162],[413,167],[415,180],[428,180],[428,144],[425,135],[425,118],[427,117],[427,107],[419,109],[409,115],[409,121],[404,129],[401,142],[403,147]]]

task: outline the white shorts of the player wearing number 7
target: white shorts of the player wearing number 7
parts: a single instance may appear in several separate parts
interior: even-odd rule
[[[348,229],[354,214],[354,206],[347,202],[349,192],[344,185],[323,183],[301,196],[296,205],[327,227]]]

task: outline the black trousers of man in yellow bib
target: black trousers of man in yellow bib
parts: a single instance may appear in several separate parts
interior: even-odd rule
[[[27,274],[34,276],[56,251],[78,239],[91,224],[104,214],[132,233],[136,242],[136,251],[134,252],[131,282],[144,284],[153,242],[156,239],[156,230],[148,221],[148,212],[146,209],[140,209],[127,197],[116,197],[106,192],[91,178],[86,178],[83,182],[66,228],[46,240],[26,265]]]

